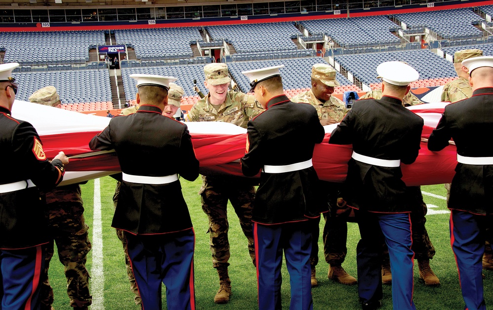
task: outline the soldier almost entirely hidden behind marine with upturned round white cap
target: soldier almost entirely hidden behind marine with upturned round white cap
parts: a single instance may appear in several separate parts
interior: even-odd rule
[[[408,93],[409,94],[409,93]],[[414,95],[412,95],[414,96]],[[413,99],[412,96],[408,96],[408,100],[402,101],[403,106],[409,106],[414,104],[423,103],[416,96],[416,99]],[[360,100],[367,98],[375,98],[380,99],[382,97],[381,90],[372,91],[360,98]],[[416,103],[420,101],[420,103]],[[417,259],[417,264],[419,267],[419,278],[423,279],[425,285],[439,285],[440,280],[437,278],[433,270],[430,267],[430,259],[435,255],[435,247],[431,243],[431,240],[428,236],[428,231],[426,230],[426,213],[428,212],[428,208],[423,201],[423,196],[421,194],[420,186],[408,186],[408,190],[413,192],[413,197],[416,198],[416,204],[420,205],[421,208],[416,208],[411,212],[411,231],[413,238],[413,246],[412,249],[415,252],[415,258]],[[390,258],[388,254],[388,249],[386,245],[383,245],[384,253],[383,253],[383,262],[382,262],[382,283],[390,284],[392,282],[392,273],[390,272]]]

